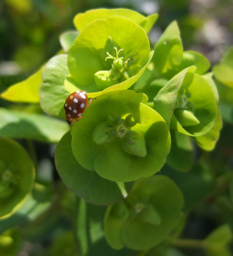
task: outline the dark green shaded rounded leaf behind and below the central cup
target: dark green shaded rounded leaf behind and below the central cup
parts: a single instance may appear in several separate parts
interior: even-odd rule
[[[71,149],[72,136],[67,132],[55,150],[55,164],[65,185],[76,195],[92,204],[113,204],[120,201],[133,186],[133,182],[120,184],[100,177],[96,172],[82,167]]]

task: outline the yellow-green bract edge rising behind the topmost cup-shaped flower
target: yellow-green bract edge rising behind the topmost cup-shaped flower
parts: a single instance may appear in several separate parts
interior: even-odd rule
[[[78,13],[74,17],[74,26],[78,31],[82,31],[88,24],[94,20],[107,19],[111,16],[121,16],[133,20],[139,24],[148,33],[158,18],[158,14],[152,14],[148,17],[128,9],[95,9],[84,13]]]

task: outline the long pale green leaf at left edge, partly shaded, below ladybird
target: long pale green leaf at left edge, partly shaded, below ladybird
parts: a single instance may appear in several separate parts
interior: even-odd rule
[[[0,136],[57,143],[68,131],[65,121],[51,116],[0,108]]]

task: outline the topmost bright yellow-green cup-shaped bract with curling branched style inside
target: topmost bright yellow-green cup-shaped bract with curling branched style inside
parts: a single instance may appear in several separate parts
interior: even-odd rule
[[[152,55],[146,32],[133,20],[120,16],[95,20],[69,50],[70,76],[65,87],[69,92],[85,90],[90,97],[104,89],[128,89],[142,75]]]

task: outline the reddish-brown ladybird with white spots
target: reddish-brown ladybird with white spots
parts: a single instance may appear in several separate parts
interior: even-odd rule
[[[94,100],[96,98],[92,98]],[[88,97],[85,91],[76,91],[71,93],[65,101],[64,110],[65,110],[65,118],[66,122],[69,125],[73,125],[74,119],[78,121],[78,118],[83,118],[82,114],[86,107],[91,104],[91,100],[89,104],[87,103]]]

